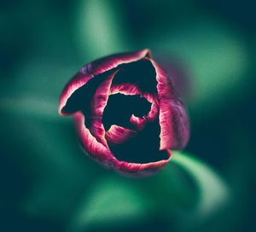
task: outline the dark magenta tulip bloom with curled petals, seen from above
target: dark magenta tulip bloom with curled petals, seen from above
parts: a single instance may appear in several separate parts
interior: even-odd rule
[[[109,55],[82,67],[61,94],[92,159],[139,176],[158,171],[189,140],[189,119],[148,49]]]

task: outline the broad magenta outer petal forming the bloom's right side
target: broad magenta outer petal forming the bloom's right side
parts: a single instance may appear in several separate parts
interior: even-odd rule
[[[183,104],[175,96],[166,73],[151,59],[157,79],[160,101],[160,150],[184,148],[189,141],[189,117]]]

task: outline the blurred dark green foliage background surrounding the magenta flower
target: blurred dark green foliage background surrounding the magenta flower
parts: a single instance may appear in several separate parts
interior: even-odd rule
[[[0,1],[0,231],[255,231],[253,1]],[[154,177],[108,171],[58,115],[85,63],[149,48],[189,109]]]

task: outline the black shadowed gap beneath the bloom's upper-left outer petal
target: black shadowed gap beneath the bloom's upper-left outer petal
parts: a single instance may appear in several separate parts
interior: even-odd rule
[[[74,113],[81,110],[85,114],[90,114],[90,102],[97,87],[105,78],[113,73],[114,70],[118,69],[119,72],[115,74],[112,84],[135,84],[142,92],[157,93],[156,73],[152,63],[148,60],[135,61],[119,65],[116,68],[91,78],[86,84],[74,91],[61,111]]]

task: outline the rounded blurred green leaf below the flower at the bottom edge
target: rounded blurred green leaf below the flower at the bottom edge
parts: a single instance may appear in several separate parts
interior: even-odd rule
[[[137,223],[148,216],[150,209],[147,197],[129,179],[102,178],[90,189],[90,194],[86,194],[79,203],[70,231],[108,229],[123,223]]]

